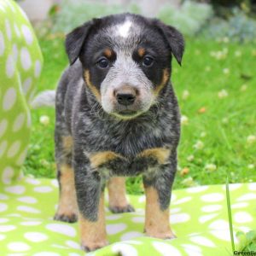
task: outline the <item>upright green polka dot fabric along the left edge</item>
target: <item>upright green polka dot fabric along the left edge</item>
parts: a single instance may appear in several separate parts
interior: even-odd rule
[[[31,131],[29,102],[42,67],[32,26],[19,6],[0,0],[0,182],[20,175]]]

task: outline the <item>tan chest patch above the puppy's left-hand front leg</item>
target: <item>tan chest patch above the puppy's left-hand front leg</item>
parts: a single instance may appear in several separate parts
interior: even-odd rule
[[[98,152],[96,154],[91,154],[89,157],[90,165],[94,168],[102,166],[103,164],[108,163],[110,160],[114,160],[116,158],[124,158],[124,157],[112,151]]]

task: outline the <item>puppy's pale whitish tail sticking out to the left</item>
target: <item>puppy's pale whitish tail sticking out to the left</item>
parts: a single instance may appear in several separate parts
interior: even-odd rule
[[[55,90],[44,90],[31,102],[31,108],[55,107]]]

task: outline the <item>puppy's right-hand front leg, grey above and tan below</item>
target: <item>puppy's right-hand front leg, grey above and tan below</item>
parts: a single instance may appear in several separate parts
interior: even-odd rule
[[[145,233],[160,239],[176,236],[169,223],[169,205],[175,172],[172,166],[160,166],[154,177],[143,177],[146,193]]]

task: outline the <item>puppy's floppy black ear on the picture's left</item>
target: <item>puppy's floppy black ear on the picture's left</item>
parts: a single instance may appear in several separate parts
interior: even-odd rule
[[[67,34],[65,46],[70,65],[73,65],[79,58],[84,40],[88,36],[90,28],[95,24],[96,20],[99,19],[90,20],[84,23],[84,25],[75,28],[73,32]]]

